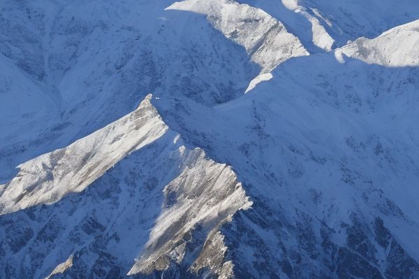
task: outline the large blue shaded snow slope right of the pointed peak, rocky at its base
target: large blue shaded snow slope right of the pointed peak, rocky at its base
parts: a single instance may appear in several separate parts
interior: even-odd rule
[[[418,276],[418,73],[316,54],[213,108],[155,101],[170,127],[232,165],[253,201],[221,229],[235,276]]]

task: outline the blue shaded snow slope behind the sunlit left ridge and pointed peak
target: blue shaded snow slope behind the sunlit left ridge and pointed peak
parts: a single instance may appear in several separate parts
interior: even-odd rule
[[[244,93],[260,66],[205,16],[165,10],[171,3],[2,3],[0,183],[132,112],[147,93],[205,105]]]

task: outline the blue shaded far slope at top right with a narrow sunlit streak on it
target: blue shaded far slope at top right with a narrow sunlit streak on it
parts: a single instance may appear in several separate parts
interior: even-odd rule
[[[342,47],[361,36],[380,33],[419,17],[419,3],[412,0],[240,0],[265,10],[284,23],[311,53]]]

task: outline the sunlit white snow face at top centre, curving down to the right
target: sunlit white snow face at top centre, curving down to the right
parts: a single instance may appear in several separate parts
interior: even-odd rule
[[[173,3],[168,10],[191,10],[207,15],[216,29],[246,49],[262,73],[270,72],[291,57],[309,54],[284,24],[249,5],[224,0],[186,0]]]

